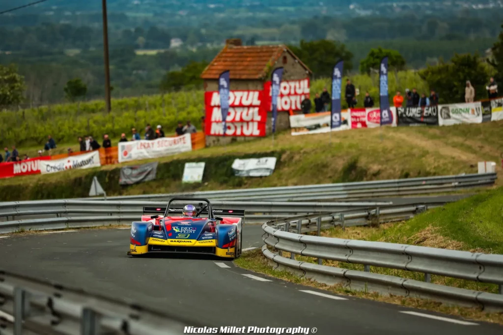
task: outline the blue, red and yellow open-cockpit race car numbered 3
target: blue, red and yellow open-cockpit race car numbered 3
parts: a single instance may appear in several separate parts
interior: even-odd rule
[[[173,207],[175,202],[185,205]],[[144,207],[143,213],[149,215],[131,225],[130,256],[175,252],[235,259],[241,255],[244,210],[214,209],[205,198],[174,197],[167,207]]]

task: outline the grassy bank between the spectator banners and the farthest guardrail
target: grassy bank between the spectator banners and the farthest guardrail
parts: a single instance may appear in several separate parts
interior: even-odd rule
[[[119,167],[72,170],[50,175],[0,179],[0,201],[85,197],[93,176],[107,195],[167,193],[246,187],[351,182],[390,178],[476,173],[477,162],[498,162],[498,185],[503,185],[499,153],[503,121],[451,127],[358,129],[332,134],[291,136],[233,143],[161,158],[157,180],[119,186]],[[235,158],[276,156],[270,177],[234,177]],[[202,184],[181,183],[185,162],[204,161]],[[148,162],[141,161],[141,163]]]

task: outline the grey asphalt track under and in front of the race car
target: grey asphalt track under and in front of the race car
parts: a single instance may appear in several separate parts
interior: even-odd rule
[[[126,255],[129,234],[128,229],[99,229],[1,238],[0,269],[149,305],[212,326],[316,327],[323,335],[503,333],[503,326],[495,324],[461,324],[453,316],[354,297],[338,299],[325,291],[236,268],[231,261],[188,255],[130,258]],[[261,236],[260,225],[246,225],[243,248],[262,246]],[[431,315],[446,319],[425,317]]]

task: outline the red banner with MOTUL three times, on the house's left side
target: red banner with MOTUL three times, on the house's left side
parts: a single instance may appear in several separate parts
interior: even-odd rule
[[[230,91],[226,136],[266,136],[267,110],[263,91]],[[205,92],[205,134],[223,136],[220,94]]]

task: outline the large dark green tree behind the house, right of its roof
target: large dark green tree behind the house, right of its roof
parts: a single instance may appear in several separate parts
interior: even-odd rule
[[[340,59],[344,60],[344,72],[353,68],[353,53],[346,49],[343,43],[328,40],[311,42],[302,40],[298,47],[288,46],[288,48],[318,77],[331,77],[333,66]]]

